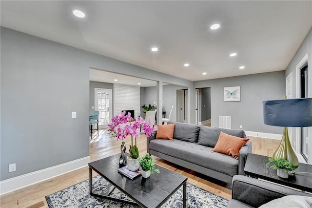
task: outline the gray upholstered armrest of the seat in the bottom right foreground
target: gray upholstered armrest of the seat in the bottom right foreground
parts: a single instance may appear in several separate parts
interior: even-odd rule
[[[311,194],[247,176],[234,175],[232,180],[232,199],[252,207],[259,207],[287,195],[311,196]]]

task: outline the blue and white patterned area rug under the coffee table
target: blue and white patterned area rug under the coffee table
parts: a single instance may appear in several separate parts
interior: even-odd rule
[[[93,178],[95,193],[107,195],[114,186],[101,176]],[[115,188],[111,197],[132,201],[127,195]],[[45,197],[49,208],[137,208],[136,206],[89,195],[89,180],[65,188]],[[182,208],[183,188],[180,187],[162,208]],[[188,208],[225,208],[228,200],[207,190],[187,183]]]

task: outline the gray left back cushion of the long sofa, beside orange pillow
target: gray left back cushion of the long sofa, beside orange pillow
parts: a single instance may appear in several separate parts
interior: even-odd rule
[[[199,125],[168,122],[168,124],[176,124],[174,139],[185,142],[197,143],[199,134]]]

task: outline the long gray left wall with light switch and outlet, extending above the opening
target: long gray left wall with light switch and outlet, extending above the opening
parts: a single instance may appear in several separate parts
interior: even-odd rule
[[[193,82],[1,27],[0,180],[89,156],[89,69]],[[77,111],[77,119],[71,119]],[[17,170],[9,173],[8,165]]]

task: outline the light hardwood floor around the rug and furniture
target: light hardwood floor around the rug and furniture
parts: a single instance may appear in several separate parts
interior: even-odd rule
[[[253,142],[253,153],[272,156],[273,152],[279,145],[279,140],[248,137]],[[86,138],[87,139],[87,138]],[[93,133],[90,139],[90,157],[91,161],[96,161],[117,153],[120,153],[120,141],[111,139],[107,136],[107,132],[103,129]],[[130,139],[126,139],[127,151],[130,144]],[[146,153],[146,136],[140,135],[137,139],[137,146],[140,150],[140,155]],[[153,156],[154,157],[154,156]],[[175,164],[154,157],[155,163],[159,166],[166,167],[188,177],[188,182],[197,187],[201,187],[226,199],[231,199],[231,190],[226,188],[226,184],[215,181],[207,176],[196,173],[193,170],[176,166]],[[95,174],[95,172],[94,172]],[[62,190],[66,187],[75,185],[89,178],[88,167],[83,167],[78,170],[60,175],[47,181],[21,188],[0,196],[1,208],[48,208],[45,196]]]

